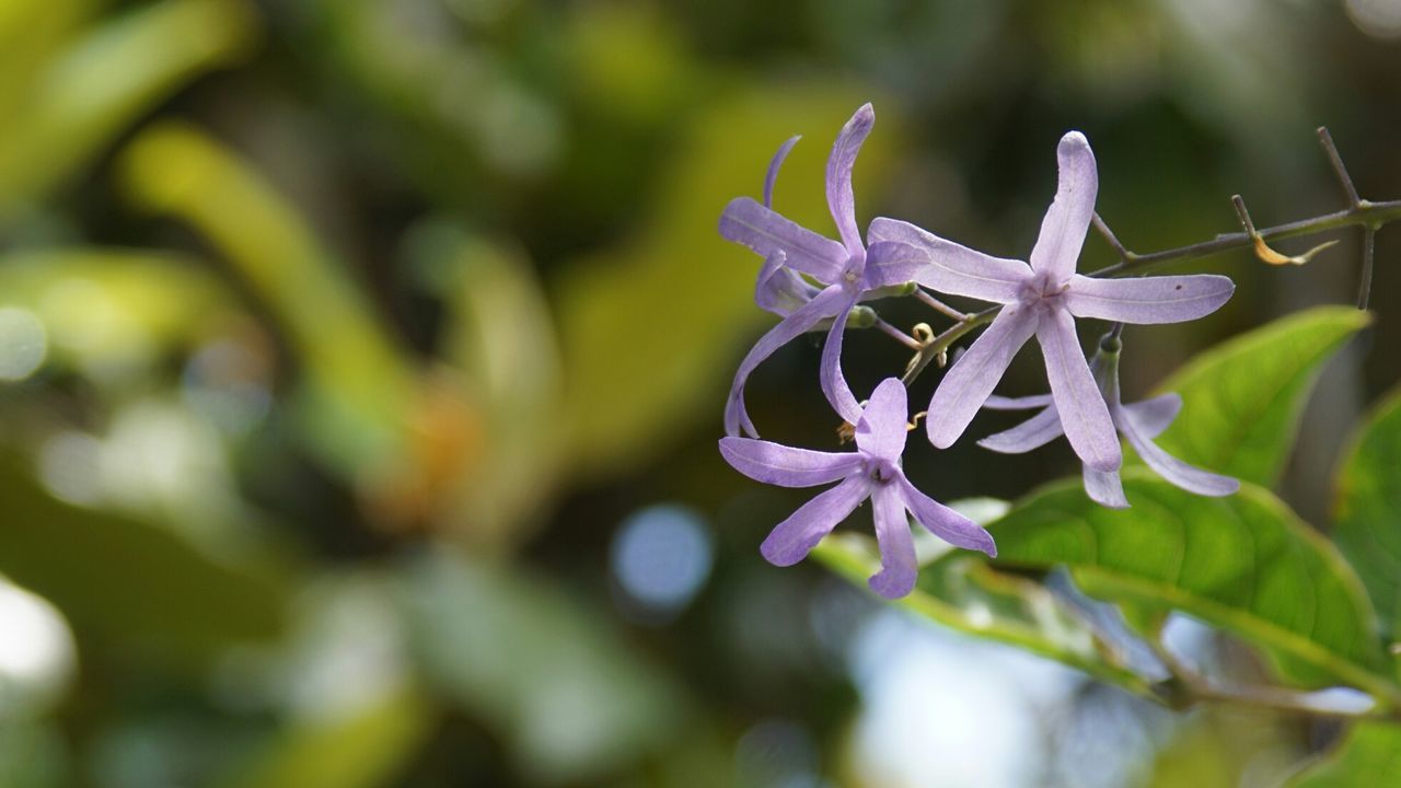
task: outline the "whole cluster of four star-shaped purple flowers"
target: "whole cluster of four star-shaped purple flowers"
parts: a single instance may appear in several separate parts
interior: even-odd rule
[[[1056,149],[1059,185],[1041,223],[1028,262],[991,257],[940,238],[908,222],[878,217],[862,240],[852,193],[852,167],[876,121],[867,104],[852,115],[827,164],[827,203],[841,241],[834,241],[772,209],[778,170],[797,137],[783,143],[769,165],[764,202],[738,198],[720,216],[720,234],[761,257],[755,301],[782,317],[740,363],[724,408],[727,437],[720,453],[736,470],[765,484],[817,487],[817,495],[764,541],[765,558],[780,566],[801,561],[862,502],[871,499],[881,571],[871,587],[887,597],[908,595],[918,576],[905,512],[950,544],[996,555],[992,537],[962,515],[916,489],[901,470],[909,423],[905,386],[881,381],[864,405],[842,374],[842,335],[862,301],[927,287],[1003,304],[996,318],[958,358],[929,402],[929,440],[947,449],[981,408],[1042,408],[1010,430],[979,442],[995,451],[1030,451],[1065,435],[1084,463],[1090,498],[1124,508],[1119,484],[1122,432],[1145,463],[1173,484],[1202,495],[1229,495],[1231,478],[1195,468],[1167,454],[1152,439],[1177,416],[1181,398],[1167,394],[1145,402],[1119,401],[1117,332],[1087,362],[1075,331],[1076,317],[1117,324],[1195,320],[1224,304],[1234,285],[1224,276],[1096,279],[1076,273],[1080,247],[1094,217],[1098,175],[1089,140],[1079,132]],[[831,321],[821,359],[828,402],[856,426],[855,451],[811,451],[758,439],[744,408],[744,384],[764,359],[785,344]],[[1051,394],[1009,400],[992,395],[1017,351],[1033,337],[1045,358]],[[741,430],[750,437],[741,437]]]

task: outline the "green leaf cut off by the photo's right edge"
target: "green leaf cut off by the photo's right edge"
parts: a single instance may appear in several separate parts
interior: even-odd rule
[[[1401,390],[1366,418],[1338,473],[1332,538],[1352,561],[1381,627],[1401,632]]]

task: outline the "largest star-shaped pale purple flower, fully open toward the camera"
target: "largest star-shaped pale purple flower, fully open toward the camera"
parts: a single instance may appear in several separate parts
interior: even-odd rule
[[[1108,407],[1100,397],[1075,334],[1076,317],[1119,322],[1178,322],[1210,314],[1234,285],[1224,276],[1091,279],[1075,272],[1094,216],[1098,175],[1084,135],[1070,132],[1056,149],[1061,165],[1055,201],[1041,222],[1030,266],[976,252],[892,219],[871,222],[877,241],[898,241],[930,252],[916,282],[944,293],[1007,304],[958,359],[929,404],[929,440],[946,449],[967,429],[1017,351],[1035,335],[1045,356],[1051,395],[1065,436],[1097,471],[1119,467],[1122,456]]]

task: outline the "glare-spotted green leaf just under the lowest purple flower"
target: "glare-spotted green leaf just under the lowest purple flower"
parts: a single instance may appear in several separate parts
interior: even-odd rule
[[[813,557],[866,587],[880,554],[864,534],[835,534]],[[996,572],[978,555],[948,551],[920,569],[915,590],[897,604],[951,630],[1005,642],[1149,694],[1146,681],[1119,651],[1041,583]]]

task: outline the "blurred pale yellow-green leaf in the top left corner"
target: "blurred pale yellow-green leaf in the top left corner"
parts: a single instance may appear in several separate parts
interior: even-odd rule
[[[76,39],[0,123],[0,216],[42,196],[195,76],[245,53],[252,35],[242,0],[165,0]]]

